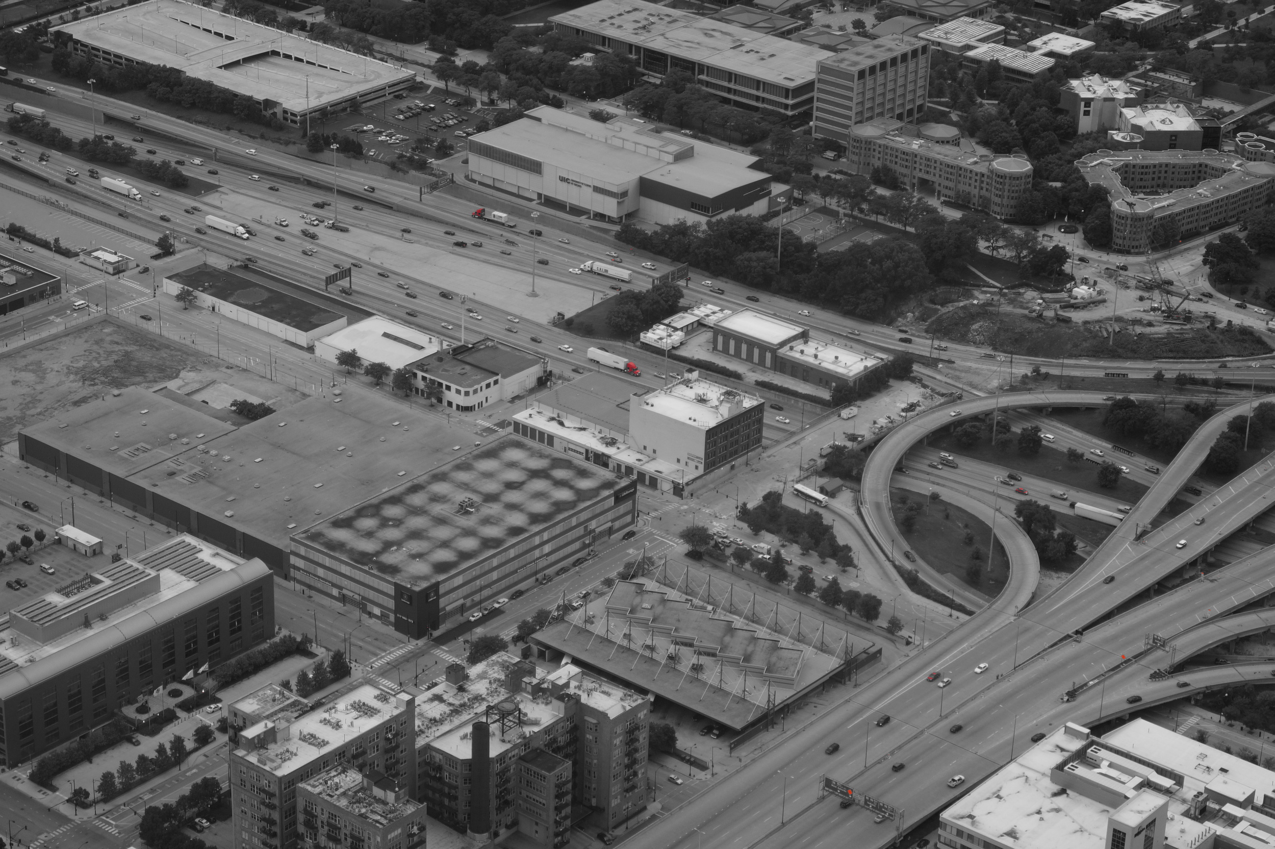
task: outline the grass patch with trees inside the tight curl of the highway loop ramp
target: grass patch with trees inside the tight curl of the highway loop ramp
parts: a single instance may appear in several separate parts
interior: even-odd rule
[[[917,500],[924,501],[915,492],[890,490],[890,501],[896,516],[903,512],[903,505],[907,501]],[[965,532],[974,534],[973,543],[964,542]],[[991,563],[987,561],[987,543],[991,539],[991,533],[992,529],[987,523],[940,498],[929,502],[928,511],[921,511],[921,515],[917,516],[917,525],[907,537],[912,551],[936,571],[960,581],[964,586],[991,600],[1005,589],[1005,584],[1010,579],[1010,558],[1000,541],[996,542]],[[970,562],[970,553],[975,547],[983,552],[983,576],[977,585],[970,584],[965,572]],[[899,562],[907,565],[905,558],[900,557]]]

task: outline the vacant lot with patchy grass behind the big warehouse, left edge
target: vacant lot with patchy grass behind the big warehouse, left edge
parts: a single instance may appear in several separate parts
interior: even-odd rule
[[[226,379],[226,363],[153,333],[99,321],[0,359],[0,440],[126,386],[154,386],[200,372]],[[273,396],[273,395],[272,395]]]

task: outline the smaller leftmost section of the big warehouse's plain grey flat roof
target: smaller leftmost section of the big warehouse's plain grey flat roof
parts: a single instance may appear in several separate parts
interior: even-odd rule
[[[61,410],[22,433],[126,478],[233,431],[233,424],[198,409],[129,386]]]

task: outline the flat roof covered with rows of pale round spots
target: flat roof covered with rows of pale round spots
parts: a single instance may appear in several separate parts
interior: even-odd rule
[[[416,589],[625,486],[607,469],[505,433],[296,539]]]

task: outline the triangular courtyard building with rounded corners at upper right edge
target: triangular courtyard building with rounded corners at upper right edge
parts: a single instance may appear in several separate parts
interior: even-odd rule
[[[1112,201],[1112,250],[1145,254],[1158,226],[1190,238],[1232,224],[1275,196],[1275,163],[1216,150],[1091,153],[1080,175]]]

